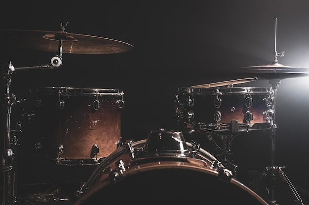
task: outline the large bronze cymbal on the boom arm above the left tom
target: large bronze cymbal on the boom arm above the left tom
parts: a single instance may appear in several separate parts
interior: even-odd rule
[[[0,30],[0,45],[17,48],[57,52],[62,38],[62,53],[70,54],[116,54],[132,50],[128,43],[110,38],[45,30]]]

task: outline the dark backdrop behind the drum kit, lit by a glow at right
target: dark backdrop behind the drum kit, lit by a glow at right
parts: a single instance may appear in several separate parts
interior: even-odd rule
[[[29,99],[29,90],[38,87],[123,89],[123,139],[145,139],[152,129],[178,129],[174,103],[177,88],[257,77],[239,68],[272,62],[275,18],[276,51],[285,52],[279,63],[309,67],[307,0],[1,1],[0,7],[0,29],[58,30],[60,23],[67,21],[67,32],[134,46],[121,54],[64,53],[60,68],[16,71],[10,87],[18,99]],[[13,48],[14,43],[11,46],[0,47],[0,61],[12,61],[15,67],[45,64],[55,55],[18,45]],[[270,88],[264,77],[259,75],[257,81],[235,86]],[[307,193],[308,78],[287,77],[280,83],[275,164],[285,166],[284,172],[293,184]],[[32,103],[26,105],[31,110]],[[12,108],[12,124],[20,110],[20,105]],[[32,153],[33,147],[27,146],[35,129],[26,125],[20,136],[19,152],[24,151],[25,164]],[[195,137],[212,151],[213,144],[205,136]],[[233,152],[242,169],[261,172],[270,165],[270,135],[246,133],[234,142]]]

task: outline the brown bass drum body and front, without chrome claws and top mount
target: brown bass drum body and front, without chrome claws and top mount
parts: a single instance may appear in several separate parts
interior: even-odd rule
[[[132,143],[140,150],[146,140]],[[193,144],[186,142],[192,150]],[[111,172],[122,160],[123,177],[115,183]],[[235,179],[218,179],[211,168],[216,160],[200,149],[195,157],[145,157],[133,160],[126,147],[106,157],[77,190],[73,205],[108,204],[216,204],[267,205],[255,192]],[[138,198],[138,200],[136,199]]]

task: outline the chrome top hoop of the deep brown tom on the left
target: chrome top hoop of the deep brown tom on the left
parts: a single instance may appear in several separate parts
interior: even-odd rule
[[[73,87],[46,87],[38,88],[37,92],[48,95],[63,95],[63,96],[103,96],[103,95],[123,95],[122,89],[112,88],[73,88]]]

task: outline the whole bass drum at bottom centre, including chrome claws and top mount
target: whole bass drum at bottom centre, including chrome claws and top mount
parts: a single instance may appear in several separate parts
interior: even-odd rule
[[[75,195],[73,205],[267,205],[197,143],[168,130],[127,141],[96,167]]]

